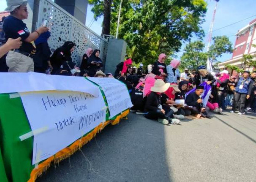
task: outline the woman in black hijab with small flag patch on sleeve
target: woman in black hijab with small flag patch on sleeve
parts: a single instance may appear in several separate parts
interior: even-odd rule
[[[57,48],[50,58],[53,67],[52,74],[55,74],[65,61],[72,61],[71,53],[75,50],[76,44],[72,41],[66,41],[63,46]]]

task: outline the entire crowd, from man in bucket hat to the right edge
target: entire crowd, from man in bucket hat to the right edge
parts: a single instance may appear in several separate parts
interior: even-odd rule
[[[179,124],[185,116],[211,118],[209,111],[222,114],[227,107],[239,115],[256,110],[256,71],[244,71],[240,77],[229,75],[227,70],[208,72],[205,66],[197,70],[180,72],[180,61],[160,54],[153,65],[144,70],[141,63],[132,67],[132,59],[116,66],[114,75],[102,71],[100,50],[88,48],[80,65],[72,62],[76,44],[66,41],[53,54],[48,45],[49,27],[42,26],[30,33],[22,20],[27,19],[27,1],[7,0],[5,17],[1,24],[4,41],[0,47],[0,71],[29,72],[65,76],[116,78],[127,85],[133,107],[132,112],[162,124]],[[2,40],[2,39],[1,39]],[[7,41],[5,41],[7,40]]]

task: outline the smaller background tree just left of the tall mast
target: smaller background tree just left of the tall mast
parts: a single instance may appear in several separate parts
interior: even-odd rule
[[[206,66],[207,53],[203,52],[204,48],[205,44],[201,40],[187,44],[181,56],[181,68],[196,70],[200,65]]]

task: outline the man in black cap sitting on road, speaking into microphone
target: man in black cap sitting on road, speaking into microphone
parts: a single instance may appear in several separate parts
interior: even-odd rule
[[[203,106],[203,100],[201,99],[201,95],[204,92],[204,86],[196,86],[195,92],[190,93],[186,99],[185,103],[187,106],[192,106],[191,114],[197,115],[198,118],[201,116],[206,118],[211,118],[210,115],[207,114],[206,108]]]

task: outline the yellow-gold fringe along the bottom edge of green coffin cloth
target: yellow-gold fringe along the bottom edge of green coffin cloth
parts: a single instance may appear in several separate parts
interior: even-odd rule
[[[87,134],[85,137],[82,137],[72,143],[69,147],[66,147],[65,149],[59,151],[57,154],[55,154],[52,157],[49,157],[44,162],[40,163],[37,168],[34,168],[30,173],[30,179],[28,182],[35,182],[35,180],[42,175],[49,167],[51,162],[54,164],[59,163],[60,161],[68,158],[72,154],[74,154],[77,150],[81,149],[86,143],[90,142],[91,139],[93,139],[103,128],[105,128],[108,124],[118,124],[121,120],[121,118],[126,117],[129,114],[129,109],[122,112],[121,115],[117,116],[117,118],[113,120],[108,120],[104,123],[99,124],[97,127],[94,128],[93,131],[91,131],[89,134]]]

